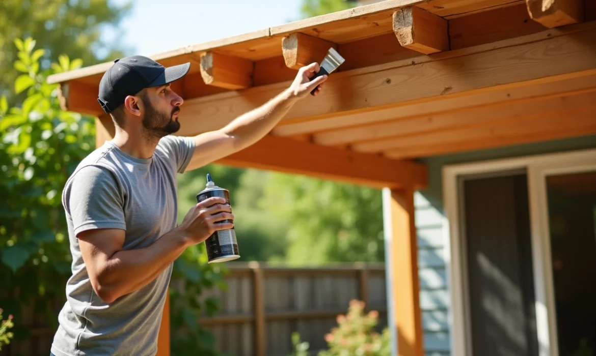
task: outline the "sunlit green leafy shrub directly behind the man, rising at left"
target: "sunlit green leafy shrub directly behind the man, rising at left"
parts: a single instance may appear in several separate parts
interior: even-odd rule
[[[57,311],[70,276],[68,232],[61,196],[66,180],[95,148],[94,117],[64,111],[57,85],[49,74],[73,70],[82,60],[59,56],[42,70],[44,49],[31,38],[15,40],[18,71],[14,90],[26,98],[11,107],[0,98],[0,308],[15,316],[14,341],[29,336],[21,314],[32,301],[34,315],[45,315],[57,327]],[[224,288],[222,270],[207,264],[204,244],[188,248],[174,264],[170,289],[172,355],[216,355],[213,339],[197,324],[197,317],[218,308],[213,298],[201,298],[204,289]],[[176,283],[176,282],[174,282]],[[187,349],[184,349],[184,346]]]

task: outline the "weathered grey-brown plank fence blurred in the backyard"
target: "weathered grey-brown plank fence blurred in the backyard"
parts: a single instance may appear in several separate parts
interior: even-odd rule
[[[200,323],[213,333],[216,349],[238,356],[286,356],[291,333],[299,332],[312,351],[325,348],[325,333],[336,326],[352,299],[366,303],[380,315],[378,329],[386,326],[385,272],[383,265],[350,264],[324,268],[288,268],[257,263],[227,263],[226,291],[214,288],[201,295],[220,299],[215,317]],[[172,280],[180,288],[182,280]],[[59,310],[60,305],[57,305]],[[0,356],[47,356],[54,330],[44,316],[26,310],[32,336],[8,345]]]

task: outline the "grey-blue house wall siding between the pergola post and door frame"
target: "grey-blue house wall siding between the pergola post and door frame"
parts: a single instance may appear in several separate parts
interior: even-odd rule
[[[517,145],[498,149],[442,155],[421,160],[429,167],[429,187],[414,196],[418,235],[418,275],[424,349],[427,356],[451,355],[448,307],[450,297],[445,273],[443,241],[442,168],[448,164],[513,158],[596,148],[596,135]]]

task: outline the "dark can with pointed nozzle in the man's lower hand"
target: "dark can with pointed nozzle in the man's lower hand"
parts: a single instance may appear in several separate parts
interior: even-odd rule
[[[228,189],[220,188],[211,180],[211,174],[207,174],[207,184],[205,189],[197,194],[197,203],[205,199],[219,196],[225,199],[225,204],[229,204]],[[231,223],[231,220],[218,221],[218,223]],[[238,251],[238,242],[236,241],[236,232],[234,228],[219,230],[214,232],[209,238],[205,240],[207,247],[207,261],[208,263],[217,263],[236,260],[240,258]]]

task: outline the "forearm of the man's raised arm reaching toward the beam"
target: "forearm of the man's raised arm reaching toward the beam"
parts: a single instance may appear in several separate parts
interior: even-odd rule
[[[267,135],[297,101],[286,89],[260,107],[236,118],[222,132],[236,140],[235,150],[244,149]]]

